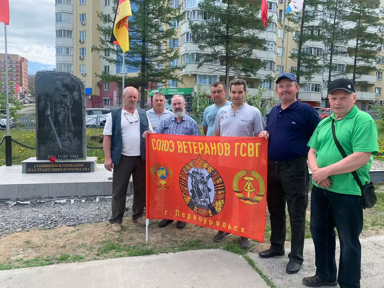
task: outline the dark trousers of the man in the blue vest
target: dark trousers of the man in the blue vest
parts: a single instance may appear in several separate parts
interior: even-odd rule
[[[146,201],[146,162],[141,156],[121,155],[119,165],[113,167],[112,218],[109,223],[122,223],[129,179],[133,180],[133,219],[141,218]]]

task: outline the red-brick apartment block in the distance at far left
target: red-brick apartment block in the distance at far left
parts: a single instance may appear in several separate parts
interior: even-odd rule
[[[16,91],[16,84],[18,84],[20,93],[14,93],[13,96],[20,98],[22,94],[28,91],[28,60],[17,54],[7,54],[7,57],[6,60],[5,54],[0,53],[0,81],[2,83],[0,90],[5,93],[5,71],[6,65],[8,65],[9,89]]]

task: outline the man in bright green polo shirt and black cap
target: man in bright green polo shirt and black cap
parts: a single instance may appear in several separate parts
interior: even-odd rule
[[[315,247],[316,275],[306,277],[307,286],[337,285],[359,288],[363,225],[361,189],[351,172],[362,184],[369,182],[373,154],[378,153],[377,127],[372,117],[354,103],[353,82],[346,78],[329,85],[330,117],[323,119],[308,143],[311,168],[311,233]],[[348,157],[343,159],[333,139],[336,138]],[[337,228],[340,241],[339,275],[335,261]]]

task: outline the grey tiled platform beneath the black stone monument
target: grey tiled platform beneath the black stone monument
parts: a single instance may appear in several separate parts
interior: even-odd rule
[[[132,177],[128,194],[132,194]],[[0,199],[97,196],[112,194],[112,172],[23,174],[22,165],[0,167]]]

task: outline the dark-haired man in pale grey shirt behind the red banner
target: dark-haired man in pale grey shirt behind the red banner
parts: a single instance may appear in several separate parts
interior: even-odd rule
[[[247,82],[243,79],[234,79],[229,83],[229,92],[232,104],[223,106],[217,113],[214,136],[257,137],[264,130],[265,123],[259,109],[244,102],[247,95]],[[214,237],[220,242],[231,233],[218,231]],[[250,246],[248,238],[240,237],[240,247]]]

